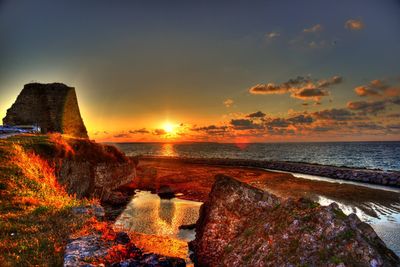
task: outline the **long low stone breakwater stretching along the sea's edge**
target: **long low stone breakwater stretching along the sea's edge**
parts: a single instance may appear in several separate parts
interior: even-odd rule
[[[262,168],[308,175],[328,177],[354,182],[362,182],[391,187],[400,187],[399,171],[383,171],[371,169],[357,169],[350,167],[337,167],[330,165],[320,165],[302,162],[286,161],[264,161],[246,159],[221,159],[221,158],[186,158],[186,157],[161,157],[161,156],[141,156],[140,159],[158,161],[179,161],[190,164],[205,164],[218,166],[235,166]]]

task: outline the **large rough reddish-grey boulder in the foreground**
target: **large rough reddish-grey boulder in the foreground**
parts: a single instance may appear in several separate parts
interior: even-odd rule
[[[400,266],[368,224],[217,175],[191,242],[197,266]]]

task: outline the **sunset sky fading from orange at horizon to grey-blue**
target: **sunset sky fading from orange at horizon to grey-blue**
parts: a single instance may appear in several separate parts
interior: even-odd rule
[[[3,0],[0,59],[98,141],[400,140],[400,1]]]

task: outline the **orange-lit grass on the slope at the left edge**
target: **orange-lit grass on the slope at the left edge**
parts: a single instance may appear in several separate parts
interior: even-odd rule
[[[57,148],[57,139],[63,142],[57,136],[0,140],[0,266],[62,265],[69,235],[91,219],[72,213],[89,201],[68,195],[54,166],[32,150],[73,152]]]

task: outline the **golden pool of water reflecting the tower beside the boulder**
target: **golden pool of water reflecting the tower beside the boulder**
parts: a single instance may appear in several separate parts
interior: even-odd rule
[[[196,223],[200,205],[201,202],[160,199],[150,192],[138,192],[117,218],[115,225],[144,234],[188,241],[194,237],[194,232],[179,230],[179,226]]]

